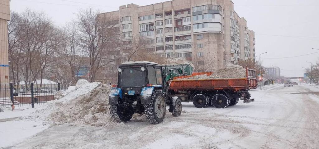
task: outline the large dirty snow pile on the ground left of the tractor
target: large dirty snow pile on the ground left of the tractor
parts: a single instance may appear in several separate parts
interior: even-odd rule
[[[79,80],[76,86],[58,91],[56,100],[49,101],[29,118],[45,120],[55,125],[113,125],[109,115],[109,92],[108,85]]]

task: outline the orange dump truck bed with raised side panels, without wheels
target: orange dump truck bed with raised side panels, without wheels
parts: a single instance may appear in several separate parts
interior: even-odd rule
[[[220,78],[220,79],[187,79],[197,75],[211,75],[213,72],[193,73],[191,76],[175,77],[171,90],[249,90],[257,87],[256,71],[246,68],[247,78]]]

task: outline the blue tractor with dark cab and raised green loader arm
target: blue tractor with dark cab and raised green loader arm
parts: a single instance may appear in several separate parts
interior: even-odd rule
[[[134,113],[144,113],[151,124],[159,124],[165,118],[167,105],[173,116],[180,116],[182,103],[177,98],[169,97],[169,84],[174,77],[189,75],[192,71],[190,64],[174,67],[146,61],[121,64],[118,84],[109,95],[110,113],[114,121],[127,122]]]

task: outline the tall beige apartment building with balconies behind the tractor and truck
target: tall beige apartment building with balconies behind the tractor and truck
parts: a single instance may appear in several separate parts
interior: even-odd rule
[[[255,59],[254,31],[234,11],[231,0],[128,4],[100,16],[119,22],[116,27],[121,30],[125,44],[143,38],[148,43],[147,51],[162,57],[184,58],[195,65],[209,62],[210,70],[227,63],[237,64],[240,59]],[[124,56],[121,61],[127,59],[126,49],[115,51]]]

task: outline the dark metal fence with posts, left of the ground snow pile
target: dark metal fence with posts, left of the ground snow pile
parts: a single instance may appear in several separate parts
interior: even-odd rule
[[[12,104],[19,106],[36,106],[54,100],[59,90],[67,90],[69,86],[57,84],[18,85],[14,83],[0,84],[0,105],[9,107]]]

